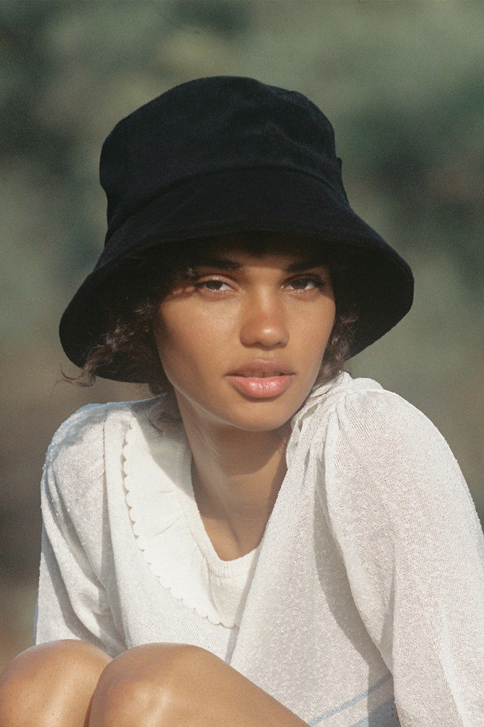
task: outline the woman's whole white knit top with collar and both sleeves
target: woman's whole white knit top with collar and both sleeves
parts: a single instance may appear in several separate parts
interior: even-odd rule
[[[54,435],[37,643],[193,643],[311,726],[484,726],[483,534],[421,412],[348,374],[316,390],[261,545],[226,562],[157,406],[86,406]]]

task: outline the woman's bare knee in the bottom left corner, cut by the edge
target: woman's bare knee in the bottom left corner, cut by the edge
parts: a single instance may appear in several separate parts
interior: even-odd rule
[[[28,648],[0,675],[0,727],[87,727],[92,694],[110,661],[83,641]]]

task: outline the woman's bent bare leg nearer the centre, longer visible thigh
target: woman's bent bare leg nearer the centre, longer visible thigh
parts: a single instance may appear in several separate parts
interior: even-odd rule
[[[102,672],[89,727],[307,727],[217,656],[195,646],[148,644]]]

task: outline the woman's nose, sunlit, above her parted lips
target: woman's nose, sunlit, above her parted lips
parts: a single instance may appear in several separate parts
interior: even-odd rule
[[[251,297],[242,311],[240,341],[245,346],[278,348],[289,342],[281,302],[276,295]]]

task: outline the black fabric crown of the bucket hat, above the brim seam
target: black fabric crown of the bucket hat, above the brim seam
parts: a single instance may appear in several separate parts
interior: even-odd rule
[[[173,185],[257,167],[311,174],[348,204],[332,125],[308,98],[238,76],[176,86],[122,119],[104,142],[106,240]]]

